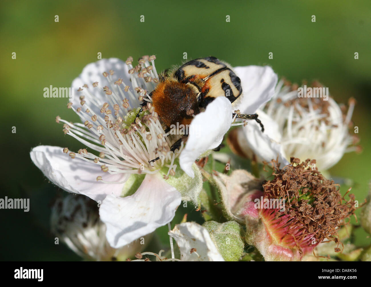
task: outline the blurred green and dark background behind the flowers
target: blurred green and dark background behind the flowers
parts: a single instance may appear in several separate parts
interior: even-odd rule
[[[123,60],[155,54],[158,71],[180,64],[184,52],[188,59],[212,55],[232,66],[268,64],[292,82],[321,81],[338,102],[355,97],[353,120],[364,151],[346,154],[330,172],[351,178],[352,192],[364,200],[371,179],[370,0],[1,1],[0,6],[0,198],[30,198],[31,206],[28,213],[0,210],[0,260],[80,260],[54,244],[49,204],[57,188],[33,165],[29,151],[39,144],[80,148],[55,123],[57,115],[71,121],[77,116],[65,99],[45,99],[43,88],[69,87],[98,52]],[[371,241],[361,230],[357,237]]]

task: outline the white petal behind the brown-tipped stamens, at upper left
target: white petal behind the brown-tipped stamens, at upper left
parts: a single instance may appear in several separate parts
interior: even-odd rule
[[[79,97],[84,95],[84,91],[77,91],[81,87],[82,89],[88,91],[94,97],[94,100],[100,105],[100,107],[95,107],[93,104],[87,101],[87,104],[89,104],[90,108],[93,109],[92,112],[96,115],[101,115],[101,106],[105,102],[109,103],[107,95],[104,91],[102,91],[102,88],[104,86],[108,86],[110,89],[113,89],[115,86],[117,86],[114,84],[110,85],[107,78],[103,76],[103,72],[109,73],[109,70],[113,70],[115,72],[112,76],[114,81],[121,78],[126,85],[131,84],[128,66],[120,59],[109,58],[90,63],[85,66],[85,68],[82,70],[82,73],[72,82],[72,88],[75,91],[75,99],[73,100],[73,106],[75,108],[81,106]],[[94,82],[98,82],[98,87],[93,87]],[[88,88],[84,88],[84,84],[87,84]],[[122,85],[121,88],[123,89]],[[110,106],[109,109],[113,111],[113,107]]]

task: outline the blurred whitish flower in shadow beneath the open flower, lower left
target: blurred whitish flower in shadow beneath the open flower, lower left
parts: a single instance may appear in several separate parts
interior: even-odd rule
[[[122,248],[112,248],[106,240],[106,226],[99,219],[98,204],[87,196],[69,194],[57,198],[52,207],[52,232],[85,260],[124,261],[141,251],[151,235]]]

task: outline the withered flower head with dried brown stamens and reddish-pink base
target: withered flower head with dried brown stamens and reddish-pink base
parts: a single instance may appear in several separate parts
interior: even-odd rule
[[[273,162],[275,178],[263,184],[264,198],[285,202],[283,211],[259,209],[267,233],[275,244],[296,247],[301,255],[312,251],[325,239],[341,244],[337,230],[357,209],[354,195],[349,194],[349,200],[345,200],[339,185],[322,176],[315,167],[315,160],[300,163],[299,158],[292,157],[290,161],[291,164],[282,170]]]

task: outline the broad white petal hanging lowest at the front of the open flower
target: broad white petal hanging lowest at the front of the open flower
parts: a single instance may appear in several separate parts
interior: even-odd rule
[[[158,176],[147,174],[131,196],[107,196],[99,208],[109,244],[118,248],[170,222],[181,195]]]

